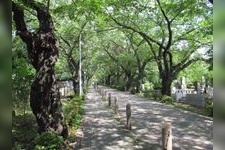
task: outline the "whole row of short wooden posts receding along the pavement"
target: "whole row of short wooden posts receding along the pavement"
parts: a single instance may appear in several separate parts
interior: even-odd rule
[[[112,105],[112,93],[107,92],[105,89],[95,87],[98,93],[102,96],[103,100],[108,100],[108,107]],[[112,107],[114,113],[118,114],[118,97],[114,97],[114,106]],[[126,129],[131,130],[131,104],[126,104]],[[162,124],[162,150],[172,150],[172,127],[170,123]]]

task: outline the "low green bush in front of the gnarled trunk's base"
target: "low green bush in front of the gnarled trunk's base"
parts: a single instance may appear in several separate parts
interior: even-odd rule
[[[63,137],[53,132],[43,132],[35,138],[35,150],[61,150]]]

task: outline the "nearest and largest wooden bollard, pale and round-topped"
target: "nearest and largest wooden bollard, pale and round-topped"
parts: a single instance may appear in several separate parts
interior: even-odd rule
[[[172,128],[170,123],[162,126],[162,150],[172,150]]]

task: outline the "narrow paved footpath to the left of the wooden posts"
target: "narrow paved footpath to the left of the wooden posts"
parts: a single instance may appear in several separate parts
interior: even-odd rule
[[[126,131],[90,88],[85,98],[83,125],[77,131],[75,149],[79,150],[132,150],[138,149],[132,135]]]

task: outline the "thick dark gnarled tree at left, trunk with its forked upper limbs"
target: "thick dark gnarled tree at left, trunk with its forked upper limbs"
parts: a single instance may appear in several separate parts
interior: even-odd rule
[[[39,30],[36,33],[30,32],[24,21],[23,8],[12,1],[17,35],[26,43],[29,60],[36,70],[36,76],[31,85],[30,106],[40,133],[53,131],[67,138],[68,128],[64,122],[54,71],[58,58],[58,45],[52,18],[43,4],[34,0],[23,0],[22,3],[37,12],[39,21]]]

